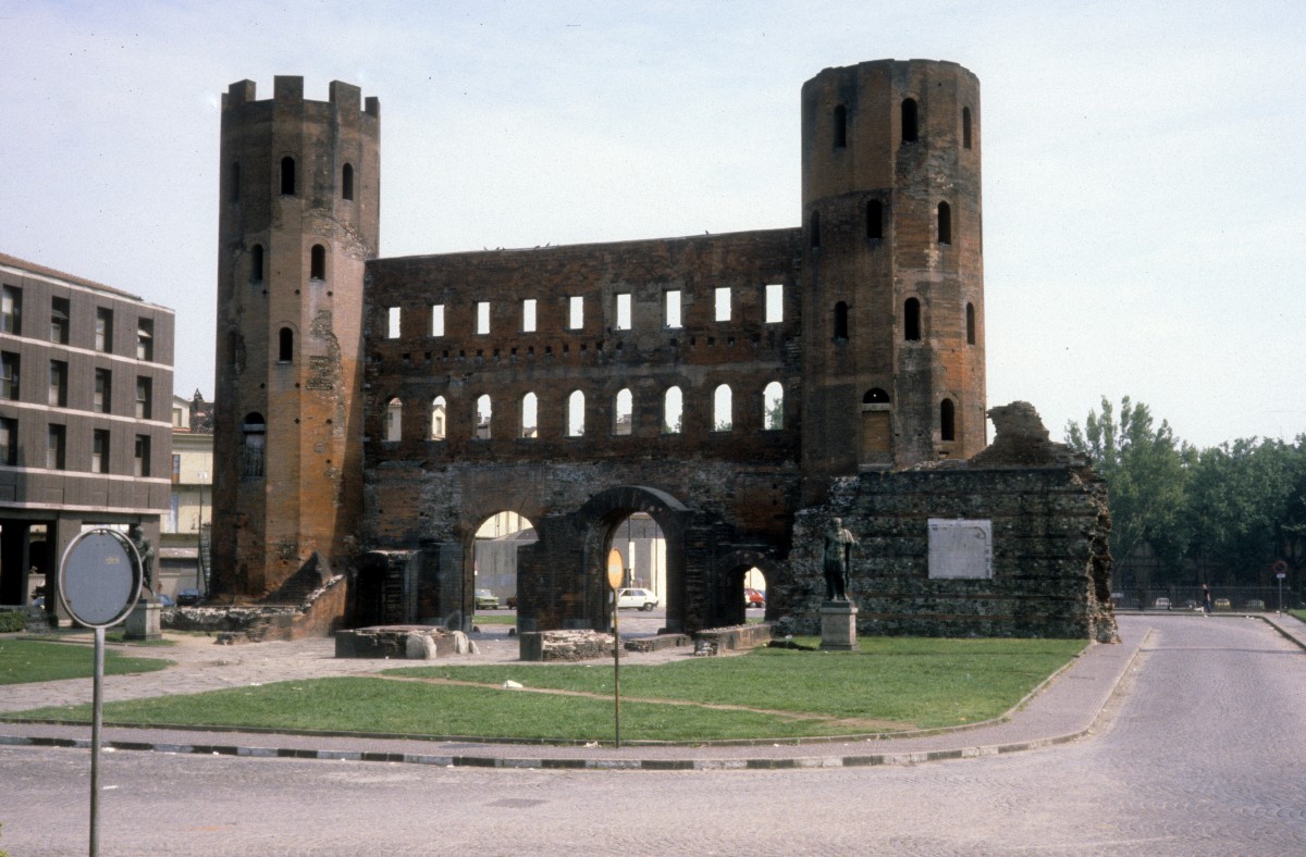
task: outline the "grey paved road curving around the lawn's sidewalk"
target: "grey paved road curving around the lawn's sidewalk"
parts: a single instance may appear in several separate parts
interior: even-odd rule
[[[116,753],[104,854],[1299,854],[1306,654],[1263,622],[1153,635],[1072,745],[916,767],[481,771]],[[0,848],[85,853],[84,751],[0,749]]]

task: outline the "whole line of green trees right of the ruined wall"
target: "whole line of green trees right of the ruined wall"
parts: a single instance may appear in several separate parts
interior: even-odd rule
[[[1306,434],[1196,449],[1147,404],[1102,397],[1066,442],[1110,490],[1115,588],[1273,586],[1282,562],[1285,590],[1302,591]]]

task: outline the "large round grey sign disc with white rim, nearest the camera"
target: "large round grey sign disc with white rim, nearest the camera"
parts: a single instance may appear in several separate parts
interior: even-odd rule
[[[136,547],[114,530],[78,534],[59,562],[59,600],[88,627],[118,625],[141,594]]]

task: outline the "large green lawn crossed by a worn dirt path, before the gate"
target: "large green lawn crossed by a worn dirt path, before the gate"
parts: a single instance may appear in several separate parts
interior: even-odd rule
[[[976,723],[1008,711],[1084,646],[872,638],[861,640],[857,654],[771,648],[628,665],[622,668],[622,736],[781,740]],[[110,703],[104,720],[555,741],[613,736],[610,665],[441,665],[385,676]],[[504,690],[507,680],[524,690]],[[14,716],[88,720],[90,710]]]

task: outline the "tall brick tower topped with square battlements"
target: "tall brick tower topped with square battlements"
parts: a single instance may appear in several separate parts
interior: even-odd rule
[[[291,600],[357,545],[380,102],[338,81],[326,102],[302,77],[272,100],[232,83],[221,157],[212,588]]]

